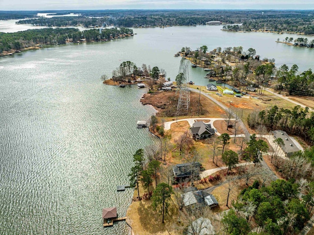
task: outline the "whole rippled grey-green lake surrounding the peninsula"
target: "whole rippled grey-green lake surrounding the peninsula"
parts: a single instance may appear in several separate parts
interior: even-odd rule
[[[125,215],[132,189],[117,193],[116,185],[128,183],[132,154],[155,139],[135,128],[154,113],[139,102],[146,90],[100,80],[122,61],[164,68],[173,80],[184,46],[243,46],[277,65],[314,67],[312,49],[275,43],[284,34],[220,28],[136,28],[121,40],[0,57],[0,234],[126,234],[125,222],[102,228],[102,208]],[[209,83],[206,71],[189,68],[190,80]]]

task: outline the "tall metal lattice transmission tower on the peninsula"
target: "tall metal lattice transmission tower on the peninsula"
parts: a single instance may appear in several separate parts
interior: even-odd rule
[[[187,62],[187,63],[186,63]],[[190,103],[190,90],[187,86],[188,81],[188,61],[185,61],[185,59],[181,59],[180,62],[180,68],[179,68],[179,75],[181,76],[181,83],[179,84],[179,100],[178,100],[178,106],[177,106],[177,116],[180,114],[187,114],[188,112],[188,105]]]

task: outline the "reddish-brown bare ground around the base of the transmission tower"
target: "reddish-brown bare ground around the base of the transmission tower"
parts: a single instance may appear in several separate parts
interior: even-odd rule
[[[175,117],[177,112],[179,93],[175,91],[157,91],[155,93],[148,93],[141,99],[142,104],[151,104],[157,110],[159,117]],[[199,94],[195,92],[190,93],[190,104],[188,113],[180,114],[187,116],[210,116],[219,117],[224,111],[209,99],[201,95],[200,110],[198,112]],[[199,115],[198,115],[199,114]]]

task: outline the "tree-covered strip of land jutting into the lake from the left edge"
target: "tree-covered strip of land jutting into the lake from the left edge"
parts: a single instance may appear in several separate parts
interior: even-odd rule
[[[14,33],[0,32],[0,52],[11,49],[22,50],[37,44],[65,44],[67,39],[73,42],[80,39],[86,39],[86,41],[109,40],[111,37],[117,37],[124,33],[131,34],[133,30],[124,27],[120,29],[106,28],[100,33],[99,29],[89,29],[81,32],[77,28],[43,28]]]

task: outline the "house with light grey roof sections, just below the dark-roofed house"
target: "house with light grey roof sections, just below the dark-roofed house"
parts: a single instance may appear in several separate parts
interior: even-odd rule
[[[210,208],[218,206],[216,198],[204,190],[197,190],[196,187],[189,187],[186,192],[181,195],[184,207],[204,207]]]

